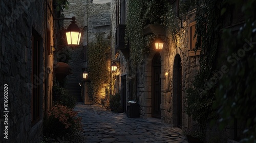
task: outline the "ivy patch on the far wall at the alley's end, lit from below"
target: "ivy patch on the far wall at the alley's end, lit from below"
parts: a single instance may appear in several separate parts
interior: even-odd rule
[[[100,104],[99,90],[104,83],[110,83],[110,41],[103,38],[103,34],[96,35],[96,42],[88,45],[88,67],[91,83],[89,84],[89,96],[94,103]]]

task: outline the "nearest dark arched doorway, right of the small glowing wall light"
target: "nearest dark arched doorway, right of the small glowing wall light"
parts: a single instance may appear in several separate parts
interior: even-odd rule
[[[174,59],[173,69],[173,123],[175,126],[182,127],[182,65],[180,55]]]

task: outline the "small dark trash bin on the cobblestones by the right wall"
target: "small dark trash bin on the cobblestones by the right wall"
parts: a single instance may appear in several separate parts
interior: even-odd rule
[[[128,117],[140,117],[140,105],[136,101],[128,101],[126,114]]]

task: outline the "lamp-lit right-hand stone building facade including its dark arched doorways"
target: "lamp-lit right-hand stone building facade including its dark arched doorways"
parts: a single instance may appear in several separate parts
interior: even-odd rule
[[[127,7],[129,1],[111,1],[112,19],[112,60],[118,61],[119,70],[114,74],[114,87],[121,94],[121,103],[126,112],[126,103],[136,100],[140,105],[140,117],[157,117],[162,122],[174,126],[189,127],[191,118],[185,113],[185,90],[191,84],[199,70],[199,56],[189,52],[189,24],[195,21],[195,11],[190,11],[182,17],[179,23],[176,42],[172,42],[172,35],[164,35],[164,48],[162,51],[153,50],[144,55],[142,65],[131,70],[130,59],[127,52],[117,48],[118,27],[125,25],[122,18],[123,5]],[[117,11],[118,10],[118,11]],[[117,13],[117,14],[116,14]],[[118,17],[117,17],[118,16]],[[117,22],[118,21],[118,22]],[[182,25],[182,26],[181,26]],[[167,38],[166,38],[167,37]],[[158,73],[157,73],[158,72]],[[159,76],[160,79],[154,78]],[[156,81],[159,80],[159,81]],[[160,97],[153,97],[156,87],[160,83]],[[158,100],[158,101],[156,101]],[[156,103],[158,102],[158,103]],[[155,107],[154,107],[155,106]],[[158,108],[158,109],[157,109]],[[158,113],[154,113],[154,110]]]

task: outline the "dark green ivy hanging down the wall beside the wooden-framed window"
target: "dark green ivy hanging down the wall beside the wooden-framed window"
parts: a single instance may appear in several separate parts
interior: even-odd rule
[[[198,121],[202,132],[205,132],[206,123],[214,118],[215,111],[212,104],[215,101],[216,85],[211,84],[211,78],[216,69],[216,51],[220,42],[222,25],[222,1],[205,1],[198,5],[196,14],[196,50],[201,48],[200,71],[195,77],[193,86],[188,88],[186,113]]]

